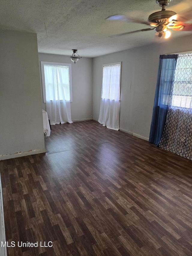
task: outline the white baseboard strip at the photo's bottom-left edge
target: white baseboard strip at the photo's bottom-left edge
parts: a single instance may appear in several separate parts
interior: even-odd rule
[[[0,241],[2,241],[3,244],[4,244],[4,242],[6,242],[1,174],[0,174]],[[6,247],[0,246],[0,255],[7,256],[7,248]]]

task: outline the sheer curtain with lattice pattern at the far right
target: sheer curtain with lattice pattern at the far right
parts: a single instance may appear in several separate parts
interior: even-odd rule
[[[179,55],[159,147],[192,159],[192,54]]]

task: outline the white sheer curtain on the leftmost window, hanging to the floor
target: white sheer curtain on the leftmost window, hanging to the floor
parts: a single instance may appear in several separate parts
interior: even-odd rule
[[[69,69],[44,65],[46,112],[51,125],[72,123],[70,109]]]

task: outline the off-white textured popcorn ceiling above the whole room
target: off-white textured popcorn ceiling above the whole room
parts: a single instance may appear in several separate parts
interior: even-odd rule
[[[166,9],[178,13],[189,2],[173,0]],[[154,31],[109,38],[148,26],[105,20],[114,14],[147,20],[155,11],[161,11],[155,0],[1,0],[0,28],[37,33],[40,53],[71,55],[78,49],[80,56],[95,57],[157,41]]]

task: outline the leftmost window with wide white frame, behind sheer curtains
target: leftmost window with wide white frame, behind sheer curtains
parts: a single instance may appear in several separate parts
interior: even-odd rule
[[[41,74],[44,103],[63,99],[72,102],[71,64],[41,61]]]

